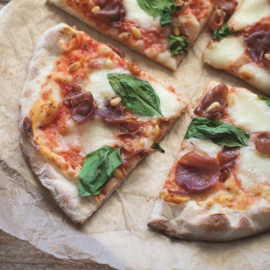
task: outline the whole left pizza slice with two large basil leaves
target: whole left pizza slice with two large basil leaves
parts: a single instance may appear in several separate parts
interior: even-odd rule
[[[171,129],[185,99],[116,48],[66,24],[47,30],[20,103],[23,152],[60,208],[86,219]]]

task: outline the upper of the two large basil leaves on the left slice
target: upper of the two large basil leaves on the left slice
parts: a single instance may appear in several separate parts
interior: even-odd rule
[[[161,102],[148,81],[124,73],[107,74],[112,89],[122,98],[123,103],[135,114],[142,116],[162,115]]]

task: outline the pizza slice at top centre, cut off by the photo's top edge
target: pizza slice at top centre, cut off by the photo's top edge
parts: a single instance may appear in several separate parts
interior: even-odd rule
[[[206,24],[214,0],[48,0],[171,70]]]

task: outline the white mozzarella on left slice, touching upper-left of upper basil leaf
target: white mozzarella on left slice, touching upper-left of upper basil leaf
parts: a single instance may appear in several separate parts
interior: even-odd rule
[[[115,92],[111,88],[107,74],[108,73],[126,73],[127,71],[121,68],[101,69],[93,72],[90,78],[82,83],[84,91],[90,91],[98,106],[103,105],[108,98],[114,98]]]

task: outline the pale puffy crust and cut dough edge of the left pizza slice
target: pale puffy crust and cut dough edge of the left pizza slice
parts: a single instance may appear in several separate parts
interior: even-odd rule
[[[20,142],[25,157],[42,185],[51,191],[54,200],[67,216],[78,225],[82,225],[108,199],[124,179],[111,178],[106,184],[108,192],[101,200],[97,200],[95,196],[80,197],[77,180],[67,179],[58,172],[54,164],[48,162],[39,152],[40,146],[36,145],[33,140],[29,116],[33,104],[39,97],[39,90],[46,82],[47,75],[53,71],[55,59],[63,53],[60,46],[61,42],[68,42],[76,31],[74,28],[61,23],[47,30],[38,40],[29,63],[28,75],[20,103]],[[182,111],[186,105],[182,103],[181,106]],[[164,135],[170,130],[176,119],[177,116],[171,120],[168,119],[167,124],[161,127]],[[126,176],[146,156],[147,154],[143,157],[135,155],[130,160],[131,166],[127,169]]]

